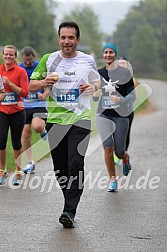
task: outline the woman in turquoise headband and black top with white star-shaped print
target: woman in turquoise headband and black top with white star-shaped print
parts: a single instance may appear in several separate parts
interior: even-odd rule
[[[126,137],[129,127],[128,103],[134,101],[133,79],[130,71],[116,64],[117,46],[107,43],[103,47],[105,66],[99,69],[101,75],[101,97],[98,104],[96,124],[99,129],[104,159],[110,183],[108,191],[117,191],[114,153],[122,159],[123,174],[127,176],[131,170],[129,154],[126,152]],[[98,100],[99,91],[93,94]]]

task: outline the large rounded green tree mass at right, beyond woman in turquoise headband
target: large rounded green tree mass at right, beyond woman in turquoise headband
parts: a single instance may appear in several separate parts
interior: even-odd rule
[[[131,8],[113,33],[119,53],[129,58],[138,74],[167,72],[167,1],[144,0]]]

